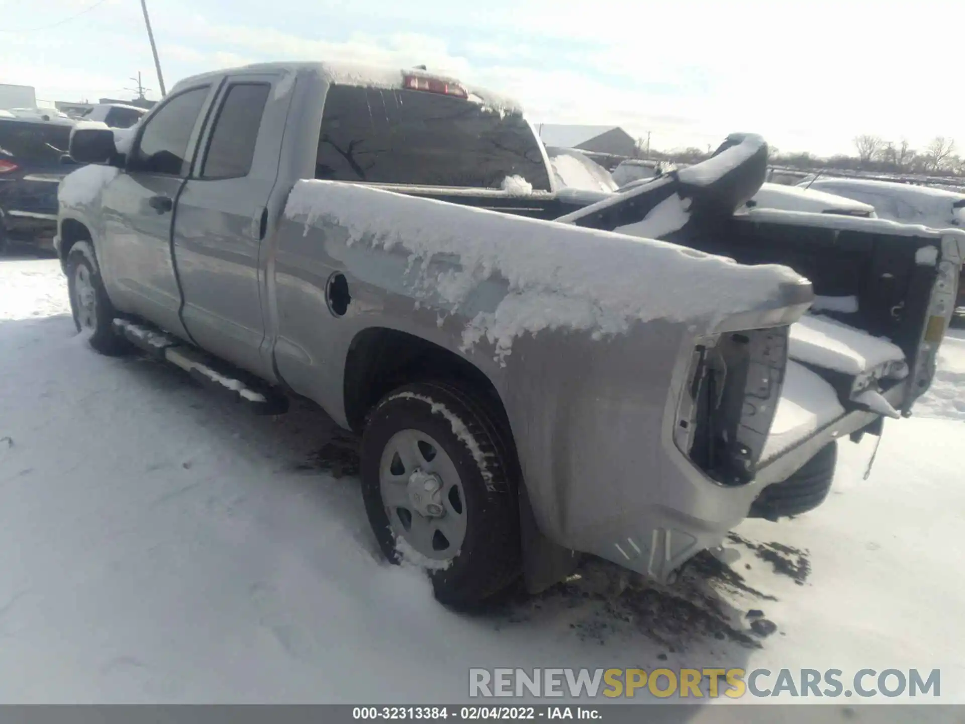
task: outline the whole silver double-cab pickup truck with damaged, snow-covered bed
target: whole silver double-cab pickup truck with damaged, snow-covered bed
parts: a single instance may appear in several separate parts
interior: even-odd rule
[[[208,73],[70,154],[78,330],[360,432],[375,538],[455,606],[578,553],[668,580],[818,505],[927,388],[965,237],[747,209],[752,135],[567,194],[514,103],[422,70]]]

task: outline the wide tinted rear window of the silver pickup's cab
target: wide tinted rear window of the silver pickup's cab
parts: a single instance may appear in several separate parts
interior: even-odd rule
[[[317,179],[500,188],[510,176],[550,187],[536,136],[518,114],[420,91],[328,91]]]

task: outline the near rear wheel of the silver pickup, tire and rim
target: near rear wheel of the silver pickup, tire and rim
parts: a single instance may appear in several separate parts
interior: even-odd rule
[[[435,597],[474,608],[521,569],[517,481],[506,431],[482,398],[448,382],[409,384],[375,406],[362,491],[390,562],[429,571]]]

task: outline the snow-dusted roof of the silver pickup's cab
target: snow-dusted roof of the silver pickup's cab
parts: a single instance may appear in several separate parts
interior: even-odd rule
[[[443,75],[439,73],[429,72],[427,70],[421,70],[416,68],[391,68],[386,66],[368,66],[356,63],[343,63],[343,62],[302,62],[302,63],[290,63],[290,62],[279,62],[279,63],[257,63],[250,66],[243,66],[239,68],[232,68],[227,70],[216,70],[201,75],[194,75],[190,78],[185,78],[180,81],[178,87],[196,82],[201,78],[207,78],[212,76],[223,75],[225,73],[237,72],[238,70],[252,71],[252,70],[284,70],[290,73],[298,73],[300,71],[316,72],[318,75],[325,78],[329,83],[334,83],[337,85],[345,86],[362,86],[365,88],[382,88],[382,89],[393,89],[393,90],[407,90],[405,85],[405,78],[407,77],[417,77],[425,78],[427,80],[435,80],[443,83],[455,84],[463,88],[468,99],[474,102],[481,103],[484,106],[493,108],[496,110],[503,111],[505,113],[519,113],[523,112],[522,106],[510,97],[502,96],[500,94],[492,93],[479,86],[473,86],[467,83],[463,83],[449,75]]]

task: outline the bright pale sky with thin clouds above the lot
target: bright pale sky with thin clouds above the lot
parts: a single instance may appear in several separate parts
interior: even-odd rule
[[[0,0],[0,82],[43,99],[158,84],[138,0]],[[654,148],[763,134],[851,151],[859,133],[965,146],[957,3],[864,0],[149,0],[170,88],[267,60],[426,64],[522,102],[543,123],[622,125]]]

